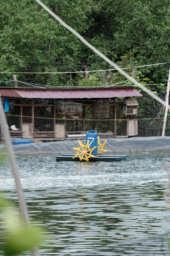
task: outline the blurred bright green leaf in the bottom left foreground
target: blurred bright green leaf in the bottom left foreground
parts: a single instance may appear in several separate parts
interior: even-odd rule
[[[6,237],[3,241],[3,253],[5,256],[19,255],[42,244],[40,227],[27,226],[23,223],[20,213],[11,202],[0,198],[0,210],[3,212]],[[44,233],[44,232],[43,232]]]

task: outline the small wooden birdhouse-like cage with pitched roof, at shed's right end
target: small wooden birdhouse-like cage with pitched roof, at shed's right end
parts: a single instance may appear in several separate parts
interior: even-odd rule
[[[123,101],[122,105],[122,113],[125,114],[125,116],[135,115],[137,116],[138,111],[138,105],[136,99],[133,100],[125,100]]]

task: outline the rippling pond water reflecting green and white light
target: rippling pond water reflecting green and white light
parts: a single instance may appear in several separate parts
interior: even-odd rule
[[[110,163],[20,155],[17,163],[33,223],[48,230],[41,255],[168,255],[168,152],[132,153]],[[17,201],[7,159],[0,162],[0,192]]]

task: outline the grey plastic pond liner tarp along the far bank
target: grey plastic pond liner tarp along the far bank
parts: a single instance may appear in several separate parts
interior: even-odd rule
[[[101,143],[107,143],[104,149],[113,152],[133,152],[133,151],[168,151],[170,150],[170,137],[132,137],[100,139]],[[81,140],[85,144],[85,140]],[[77,140],[64,140],[46,143],[30,143],[13,145],[14,151],[20,154],[60,154],[75,153],[73,147],[79,147]],[[0,145],[0,151],[5,149],[5,145]]]

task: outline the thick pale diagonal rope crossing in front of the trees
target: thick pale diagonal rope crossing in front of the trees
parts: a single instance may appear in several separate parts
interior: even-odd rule
[[[150,92],[150,90],[148,90],[146,87],[144,87],[142,84],[140,84],[138,81],[136,81],[134,78],[132,78],[131,76],[129,76],[124,70],[120,69],[119,66],[117,66],[115,63],[113,63],[113,61],[111,61],[109,58],[107,58],[104,54],[102,54],[102,52],[100,52],[99,50],[97,50],[93,45],[89,44],[88,41],[85,40],[85,38],[83,38],[81,35],[79,35],[79,33],[77,33],[74,29],[71,28],[71,26],[68,26],[62,19],[60,19],[54,12],[52,12],[47,6],[45,6],[45,4],[43,4],[40,0],[35,0],[37,3],[39,3],[40,6],[42,6],[42,8],[44,8],[49,14],[51,14],[56,20],[59,21],[59,23],[62,24],[62,26],[64,26],[66,29],[68,29],[69,31],[71,31],[75,36],[77,36],[77,38],[79,38],[83,44],[85,44],[86,46],[88,46],[90,49],[92,49],[94,52],[96,52],[97,55],[99,55],[101,58],[103,58],[106,62],[108,62],[112,67],[114,67],[116,70],[119,71],[119,73],[121,73],[123,76],[125,76],[127,79],[129,79],[130,81],[132,81],[134,84],[136,84],[139,88],[141,88],[142,90],[144,90],[145,92],[147,92],[151,97],[153,97],[153,99],[156,99],[158,102],[160,102],[162,105],[166,106],[166,103],[160,99],[158,96],[156,96],[155,94],[153,94],[152,92]],[[170,106],[168,106],[168,109],[170,109]]]

